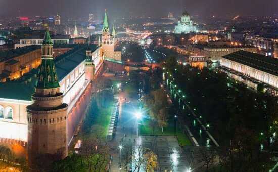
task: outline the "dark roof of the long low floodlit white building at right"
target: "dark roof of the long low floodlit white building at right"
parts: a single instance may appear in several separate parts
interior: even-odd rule
[[[276,58],[243,50],[225,55],[222,58],[235,61],[246,66],[261,70],[263,72],[278,76],[278,59]]]

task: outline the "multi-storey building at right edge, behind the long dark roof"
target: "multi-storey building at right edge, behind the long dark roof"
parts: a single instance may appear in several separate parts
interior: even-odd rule
[[[274,56],[274,44],[278,42],[278,37],[275,36],[256,36],[256,35],[247,35],[245,37],[245,42],[248,45],[258,47],[263,51],[267,56]],[[268,54],[270,53],[270,54]]]

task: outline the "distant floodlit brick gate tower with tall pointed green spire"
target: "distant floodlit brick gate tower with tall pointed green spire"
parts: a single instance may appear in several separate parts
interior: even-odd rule
[[[115,51],[115,45],[117,44],[118,41],[117,33],[115,31],[115,27],[113,26],[112,34],[110,34],[106,12],[107,10],[105,10],[103,29],[102,29],[102,38],[101,40],[99,40],[100,41],[99,44],[102,46],[104,58],[121,61],[122,59],[121,51]]]

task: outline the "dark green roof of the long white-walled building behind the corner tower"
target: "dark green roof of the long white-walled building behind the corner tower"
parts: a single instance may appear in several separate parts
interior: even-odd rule
[[[98,45],[91,44],[90,46],[91,50],[98,48]],[[59,81],[63,80],[66,75],[86,59],[86,48],[85,44],[78,44],[72,50],[54,58]],[[38,68],[25,73],[20,79],[0,82],[0,98],[31,101],[31,95],[35,92],[37,73]]]

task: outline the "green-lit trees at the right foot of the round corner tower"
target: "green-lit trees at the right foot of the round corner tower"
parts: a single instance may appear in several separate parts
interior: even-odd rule
[[[102,138],[103,130],[92,128],[92,137],[83,138],[80,148],[63,160],[55,162],[52,171],[105,171],[109,162],[110,141]]]

